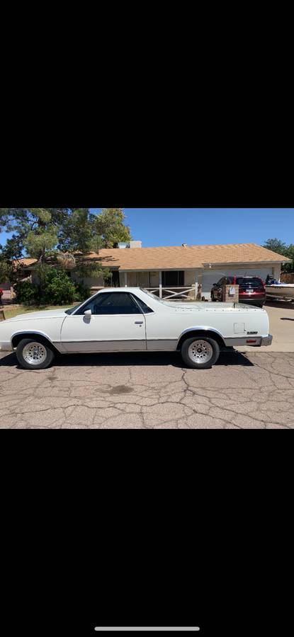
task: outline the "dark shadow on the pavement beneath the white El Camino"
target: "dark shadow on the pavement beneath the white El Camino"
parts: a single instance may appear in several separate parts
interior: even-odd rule
[[[117,354],[58,354],[53,361],[52,367],[154,367],[168,366],[189,369],[183,362],[179,353],[169,352],[120,352]],[[242,365],[242,367],[254,367],[254,364],[247,359],[246,355],[237,352],[233,348],[227,352],[220,352],[220,357],[215,366]],[[21,369],[14,353],[8,354],[0,359],[0,367],[16,367]],[[41,370],[42,371],[42,370]]]

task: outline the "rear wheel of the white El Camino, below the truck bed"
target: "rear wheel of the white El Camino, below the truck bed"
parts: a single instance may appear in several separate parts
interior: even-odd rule
[[[197,342],[199,348],[197,348]],[[195,343],[195,348],[191,348],[191,345]],[[204,343],[208,346],[205,347]],[[190,349],[191,348],[191,349]],[[195,360],[191,357],[191,350],[195,351]],[[206,353],[205,353],[206,352]],[[181,346],[181,357],[187,367],[192,369],[210,369],[220,355],[220,346],[213,338],[207,336],[193,336],[193,338],[186,338]],[[203,362],[201,361],[203,359]]]

